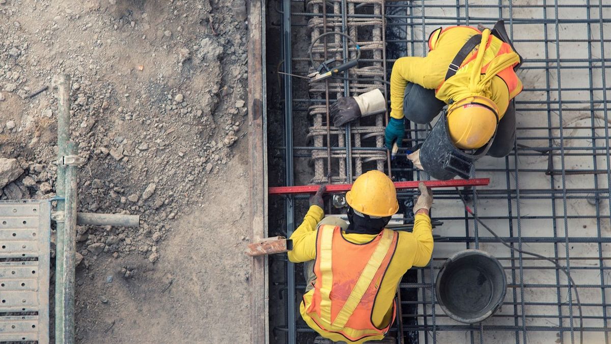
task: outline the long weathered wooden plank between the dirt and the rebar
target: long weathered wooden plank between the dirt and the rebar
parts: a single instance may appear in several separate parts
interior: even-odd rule
[[[267,236],[267,152],[265,91],[265,2],[248,6],[249,219],[252,240]],[[252,258],[251,343],[269,343],[267,256]]]

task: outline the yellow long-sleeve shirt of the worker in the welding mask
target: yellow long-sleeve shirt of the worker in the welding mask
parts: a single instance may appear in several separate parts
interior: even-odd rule
[[[392,66],[390,75],[390,116],[403,118],[403,94],[408,82],[419,84],[423,88],[436,89],[444,82],[448,65],[454,59],[458,51],[471,36],[477,31],[466,26],[459,26],[444,31],[437,39],[436,48],[429,51],[425,58],[404,57],[397,59]],[[472,54],[477,53],[473,52]],[[450,99],[462,99],[469,92],[468,81],[464,87],[450,87],[444,97],[437,98],[448,103]],[[499,118],[503,117],[510,101],[507,84],[500,77],[492,77],[490,87],[482,94],[496,103],[499,108]]]

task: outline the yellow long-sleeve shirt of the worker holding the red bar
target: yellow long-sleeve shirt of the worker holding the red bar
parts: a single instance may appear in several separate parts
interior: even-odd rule
[[[316,258],[316,223],[320,222],[324,217],[323,209],[319,206],[311,206],[304,221],[293,232],[290,239],[293,240],[293,250],[288,252],[288,260],[293,263],[301,263],[304,261],[314,260]],[[399,239],[397,241],[397,250],[390,261],[386,275],[380,285],[378,296],[376,297],[375,305],[373,306],[373,316],[371,320],[378,328],[387,326],[392,319],[392,300],[397,293],[397,285],[412,266],[426,266],[431,260],[433,254],[433,230],[431,227],[431,219],[425,214],[416,214],[414,220],[414,231],[412,233],[399,231]],[[346,234],[343,232],[343,237],[350,242],[356,244],[365,244],[370,242],[375,237],[375,234]],[[305,313],[312,301],[312,293],[304,295],[304,301],[301,302],[299,312],[302,318],[313,329],[319,328],[316,323]],[[337,342],[346,338],[340,334],[328,333],[327,338]],[[381,338],[370,337],[367,340],[376,340]],[[362,343],[358,342],[348,343]]]

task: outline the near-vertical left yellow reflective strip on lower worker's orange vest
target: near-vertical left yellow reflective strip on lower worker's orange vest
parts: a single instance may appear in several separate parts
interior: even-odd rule
[[[320,227],[323,231],[320,241],[320,317],[325,323],[331,324],[331,287],[333,286],[333,274],[331,271],[331,246],[333,243],[333,231],[335,227],[324,225]],[[318,282],[316,282],[318,283]]]

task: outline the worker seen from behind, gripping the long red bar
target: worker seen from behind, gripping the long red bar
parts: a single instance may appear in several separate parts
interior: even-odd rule
[[[433,252],[433,196],[424,184],[419,189],[412,233],[384,228],[399,205],[395,185],[380,171],[362,174],[346,193],[349,224],[324,217],[324,186],[310,198],[304,222],[290,237],[288,259],[305,262],[299,311],[318,334],[347,343],[384,338],[401,277],[412,266],[426,266]]]

